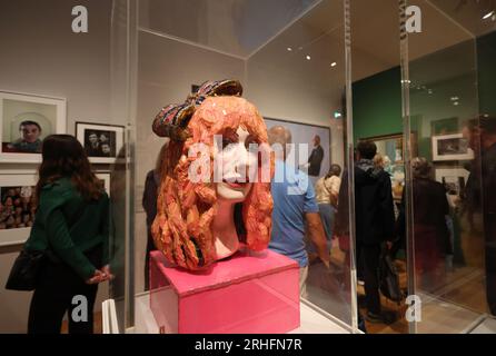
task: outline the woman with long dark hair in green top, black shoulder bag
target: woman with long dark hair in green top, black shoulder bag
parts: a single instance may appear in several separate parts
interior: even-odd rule
[[[42,144],[38,211],[27,250],[44,250],[29,310],[29,334],[58,334],[68,312],[70,334],[93,330],[98,284],[108,267],[109,199],[85,149],[69,135]]]

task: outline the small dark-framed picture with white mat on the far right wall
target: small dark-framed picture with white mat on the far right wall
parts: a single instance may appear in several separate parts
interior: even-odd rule
[[[468,147],[468,141],[462,134],[434,136],[433,160],[470,160],[474,151]]]

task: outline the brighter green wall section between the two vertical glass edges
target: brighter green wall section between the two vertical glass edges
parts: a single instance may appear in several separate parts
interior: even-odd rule
[[[399,67],[353,85],[353,120],[355,141],[403,132]]]

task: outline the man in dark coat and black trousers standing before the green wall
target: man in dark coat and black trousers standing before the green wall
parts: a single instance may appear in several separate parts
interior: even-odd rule
[[[355,231],[357,265],[361,261],[367,305],[366,319],[370,323],[390,324],[393,318],[383,313],[380,306],[378,268],[381,245],[393,240],[395,212],[391,180],[380,167],[374,165],[377,147],[371,141],[357,146],[355,164]],[[344,174],[339,189],[336,235],[349,234],[348,184]]]

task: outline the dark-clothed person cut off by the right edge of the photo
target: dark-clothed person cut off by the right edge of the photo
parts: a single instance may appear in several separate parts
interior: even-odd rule
[[[475,152],[465,191],[466,210],[483,214],[487,304],[496,315],[496,117],[472,119],[464,136]]]

